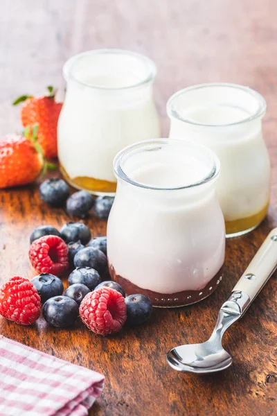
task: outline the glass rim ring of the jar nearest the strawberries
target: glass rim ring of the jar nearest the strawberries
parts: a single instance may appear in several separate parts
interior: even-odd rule
[[[143,78],[138,83],[126,85],[125,87],[105,87],[104,85],[88,84],[88,83],[84,83],[83,81],[73,76],[73,73],[72,73],[73,64],[75,64],[75,62],[80,60],[80,58],[83,58],[89,55],[100,55],[100,54],[109,54],[109,53],[114,54],[114,55],[129,55],[129,56],[132,56],[134,58],[141,60],[141,62],[144,62],[145,68],[148,67],[148,75],[145,76],[145,78]],[[127,51],[125,49],[112,49],[112,48],[111,49],[93,49],[91,51],[78,53],[77,55],[73,55],[71,58],[69,58],[69,60],[67,60],[64,66],[62,67],[62,73],[66,81],[73,80],[75,81],[75,83],[78,83],[80,85],[83,85],[84,87],[89,87],[93,89],[116,91],[116,90],[121,90],[121,89],[131,89],[131,88],[141,87],[142,85],[146,85],[150,83],[152,80],[154,80],[155,76],[157,75],[157,67],[150,58],[148,58],[145,55],[142,55],[141,53]]]

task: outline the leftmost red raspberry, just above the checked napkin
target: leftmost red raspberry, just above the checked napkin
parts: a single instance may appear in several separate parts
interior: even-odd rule
[[[30,325],[40,315],[40,297],[24,277],[12,277],[0,291],[0,315],[21,325]]]

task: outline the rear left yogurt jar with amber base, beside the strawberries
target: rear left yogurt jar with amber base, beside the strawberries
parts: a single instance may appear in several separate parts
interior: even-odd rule
[[[116,153],[160,136],[154,63],[139,53],[100,49],[64,64],[66,96],[57,128],[60,169],[77,189],[114,195]]]

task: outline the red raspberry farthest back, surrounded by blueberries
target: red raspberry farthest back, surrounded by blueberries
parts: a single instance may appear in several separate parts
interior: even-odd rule
[[[30,246],[29,258],[38,273],[60,276],[69,267],[66,243],[58,236],[44,236]]]

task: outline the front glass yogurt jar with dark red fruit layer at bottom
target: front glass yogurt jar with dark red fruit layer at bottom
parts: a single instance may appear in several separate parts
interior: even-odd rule
[[[211,150],[183,140],[142,141],[118,153],[107,256],[127,295],[144,293],[169,307],[215,291],[225,250],[219,171]]]

